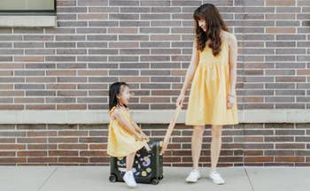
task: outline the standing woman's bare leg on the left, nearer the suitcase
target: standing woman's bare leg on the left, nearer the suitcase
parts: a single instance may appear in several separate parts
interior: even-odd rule
[[[191,136],[191,157],[193,160],[193,168],[198,169],[205,126],[194,126],[193,128],[193,134]]]

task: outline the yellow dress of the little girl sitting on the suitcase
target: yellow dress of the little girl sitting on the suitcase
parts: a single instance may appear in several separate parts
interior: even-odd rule
[[[136,141],[134,134],[126,127],[120,125],[119,121],[111,118],[111,113],[116,107],[109,111],[110,124],[108,134],[107,154],[112,157],[126,157],[129,154],[142,149],[146,141]],[[121,115],[131,124],[130,111],[120,111]]]

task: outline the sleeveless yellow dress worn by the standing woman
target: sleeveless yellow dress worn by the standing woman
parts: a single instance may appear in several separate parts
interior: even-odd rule
[[[185,124],[189,126],[238,124],[235,103],[227,109],[229,95],[229,44],[221,42],[221,52],[214,57],[212,49],[198,50],[198,67],[190,88]]]

